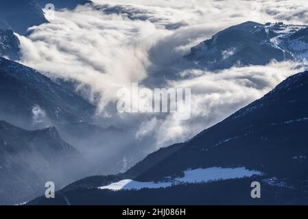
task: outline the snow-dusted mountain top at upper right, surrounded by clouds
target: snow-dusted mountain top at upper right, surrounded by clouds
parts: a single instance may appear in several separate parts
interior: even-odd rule
[[[205,40],[185,58],[210,70],[234,65],[265,65],[271,60],[303,60],[308,44],[301,38],[307,26],[283,23],[241,23]],[[296,38],[297,36],[297,38]]]

